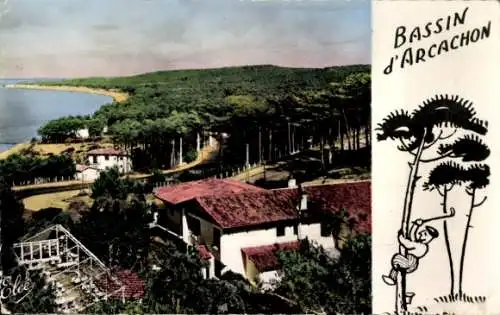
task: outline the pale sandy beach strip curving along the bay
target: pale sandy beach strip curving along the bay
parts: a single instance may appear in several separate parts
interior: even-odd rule
[[[104,96],[110,96],[117,103],[123,103],[130,97],[130,95],[128,93],[118,91],[118,90],[105,90],[105,89],[89,88],[89,87],[84,87],[84,86],[6,84],[3,87],[7,88],[7,89],[62,91],[62,92],[76,92],[76,93],[88,93],[88,94],[104,95]]]

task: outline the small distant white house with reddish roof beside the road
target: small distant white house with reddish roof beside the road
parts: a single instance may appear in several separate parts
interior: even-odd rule
[[[132,160],[128,154],[117,149],[95,149],[87,152],[89,165],[101,171],[118,167],[120,173],[132,171]]]

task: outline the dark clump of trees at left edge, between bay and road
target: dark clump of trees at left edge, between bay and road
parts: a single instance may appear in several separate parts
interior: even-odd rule
[[[0,176],[10,184],[32,184],[37,178],[73,178],[75,174],[75,163],[64,154],[48,158],[12,154],[7,159],[0,160]]]

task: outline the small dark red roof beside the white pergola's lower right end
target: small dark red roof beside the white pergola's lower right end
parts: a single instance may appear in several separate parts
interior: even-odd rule
[[[126,300],[141,299],[144,296],[146,283],[135,272],[131,270],[120,270],[113,273],[113,276],[123,284],[123,297]],[[122,298],[122,292],[116,292],[120,288],[120,285],[117,282],[112,281],[109,276],[102,276],[97,280],[96,284],[104,292],[107,292],[108,294],[112,293],[110,298],[117,300]]]

